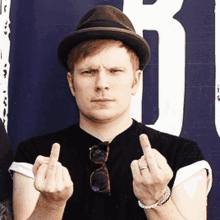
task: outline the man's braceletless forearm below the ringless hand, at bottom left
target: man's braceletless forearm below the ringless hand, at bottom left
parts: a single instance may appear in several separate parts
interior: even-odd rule
[[[66,203],[49,204],[43,197],[39,196],[36,207],[27,220],[61,220],[63,217]]]

